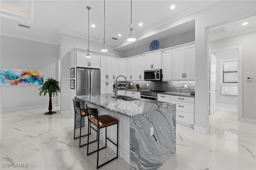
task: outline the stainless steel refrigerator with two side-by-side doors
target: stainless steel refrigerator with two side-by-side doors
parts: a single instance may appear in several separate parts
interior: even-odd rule
[[[76,95],[100,94],[100,69],[76,69]]]

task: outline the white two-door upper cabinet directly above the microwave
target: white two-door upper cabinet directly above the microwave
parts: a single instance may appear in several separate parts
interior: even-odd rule
[[[162,69],[161,51],[145,54],[145,70]]]

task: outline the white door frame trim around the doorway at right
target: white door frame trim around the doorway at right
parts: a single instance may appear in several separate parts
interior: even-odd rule
[[[220,49],[213,49],[209,51],[210,53],[216,53],[221,51],[228,51],[232,49],[238,49],[238,121],[249,123],[248,119],[242,117],[242,45],[236,45],[231,47],[225,47]],[[210,88],[210,84],[209,84]]]

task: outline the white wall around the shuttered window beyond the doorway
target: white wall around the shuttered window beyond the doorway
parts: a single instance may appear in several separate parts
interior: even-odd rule
[[[211,46],[209,47],[209,49]],[[221,51],[215,53],[216,55],[216,103],[227,104],[227,105],[238,105],[238,96],[237,95],[223,95],[221,93],[221,85],[222,75],[220,75],[221,67],[221,60],[225,59],[238,59],[238,49],[228,50],[228,51]],[[236,83],[237,85],[237,83]]]

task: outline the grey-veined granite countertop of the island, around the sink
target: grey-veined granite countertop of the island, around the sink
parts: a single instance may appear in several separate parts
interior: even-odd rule
[[[153,111],[162,107],[174,105],[172,103],[159,102],[148,99],[138,99],[134,101],[125,101],[121,99],[112,98],[112,94],[101,94],[101,95],[82,95],[75,96],[76,99],[86,101],[108,109],[109,111],[119,113],[127,117],[132,117],[148,111]]]

